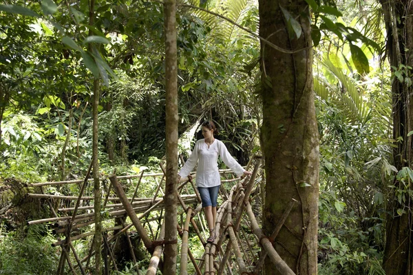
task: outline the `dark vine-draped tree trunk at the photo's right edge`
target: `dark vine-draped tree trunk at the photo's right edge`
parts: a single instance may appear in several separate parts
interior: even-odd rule
[[[390,65],[400,68],[400,65],[413,66],[413,1],[381,0],[385,26],[388,32],[386,45]],[[392,69],[393,70],[393,69]],[[410,70],[410,74],[412,70]],[[403,75],[405,77],[405,75]],[[392,82],[393,106],[393,138],[400,142],[393,148],[393,161],[397,170],[402,167],[412,168],[413,147],[412,136],[407,134],[413,130],[413,86],[401,82],[397,77]],[[403,139],[400,139],[402,137]],[[390,190],[388,200],[388,216],[386,217],[386,242],[383,256],[383,268],[388,275],[413,274],[412,247],[412,210],[413,203],[406,194],[405,201],[400,203],[396,192],[405,191],[410,187],[399,181],[396,188]],[[405,210],[401,216],[397,210]]]

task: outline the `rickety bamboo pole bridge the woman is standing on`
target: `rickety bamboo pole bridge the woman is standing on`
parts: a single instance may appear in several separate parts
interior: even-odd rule
[[[255,167],[253,174],[246,179],[240,179],[231,176],[230,170],[220,170],[222,176],[222,187],[220,188],[221,205],[217,211],[217,220],[215,223],[216,238],[213,243],[206,243],[204,237],[206,235],[206,223],[198,213],[202,210],[200,203],[200,196],[195,184],[191,179],[181,179],[178,186],[178,203],[182,208],[181,226],[178,225],[178,232],[181,236],[180,248],[180,274],[189,274],[191,270],[195,274],[233,274],[233,268],[237,268],[238,274],[258,274],[264,259],[268,258],[273,261],[279,272],[282,274],[294,274],[294,272],[286,265],[273,247],[273,240],[276,238],[280,228],[282,227],[286,217],[288,216],[295,201],[292,201],[279,221],[271,236],[265,236],[258,226],[255,215],[253,214],[253,207],[251,205],[251,194],[256,196],[260,193],[260,185],[255,184],[257,181],[258,171],[260,167],[260,158],[255,159]],[[154,179],[156,188],[153,188],[154,194],[149,198],[138,197],[138,187],[143,178]],[[176,243],[177,239],[165,240],[165,216],[162,214],[164,207],[164,199],[158,196],[162,193],[162,183],[165,181],[163,173],[140,173],[133,176],[116,176],[110,175],[109,187],[105,187],[105,194],[103,196],[102,209],[105,210],[105,215],[102,217],[107,225],[103,228],[103,258],[105,268],[109,268],[112,264],[114,269],[117,269],[116,254],[114,253],[114,243],[122,235],[127,236],[129,252],[132,255],[133,262],[138,270],[138,261],[134,254],[134,244],[129,238],[128,231],[131,227],[135,230],[145,245],[146,249],[151,253],[149,266],[147,267],[147,274],[156,274],[158,268],[162,271],[162,250],[166,243]],[[123,185],[120,181],[131,181],[138,179],[136,187],[134,187],[133,196],[127,197]],[[160,179],[160,181],[158,180]],[[103,179],[105,180],[105,179]],[[49,182],[49,183],[33,183],[30,186],[43,187],[53,185],[65,185],[73,183],[84,183],[87,185],[89,179],[84,181],[64,181],[64,182]],[[189,184],[189,189],[187,187]],[[235,185],[234,185],[235,183]],[[233,185],[231,190],[226,190],[229,185]],[[112,189],[111,189],[112,188]],[[111,194],[112,193],[112,194]],[[114,194],[116,196],[114,196]],[[84,196],[83,189],[78,196],[62,196],[53,194],[34,194],[30,193],[28,196],[32,198],[39,198],[47,200],[50,207],[53,206],[54,199],[59,200],[64,207],[56,207],[56,210],[62,215],[54,215],[53,218],[43,218],[37,221],[28,221],[28,225],[39,223],[52,223],[53,233],[63,235],[63,239],[58,238],[58,241],[52,243],[53,246],[62,247],[61,263],[59,263],[59,270],[64,268],[67,261],[72,274],[76,274],[76,269],[80,270],[81,274],[87,274],[89,263],[94,256],[93,245],[89,250],[89,254],[84,258],[79,258],[72,242],[94,236],[94,213],[93,205],[90,202],[94,197]],[[76,202],[74,207],[70,206],[70,202]],[[196,205],[196,207],[195,207]],[[77,214],[81,211],[83,213]],[[54,212],[54,210],[52,210]],[[66,213],[71,213],[71,216],[65,216]],[[137,214],[139,214],[137,216]],[[125,218],[128,217],[131,223],[125,223]],[[248,218],[248,221],[245,221]],[[112,221],[112,222],[110,222]],[[116,223],[113,223],[116,221]],[[119,223],[121,222],[121,224]],[[244,223],[245,221],[245,223]],[[250,225],[247,225],[247,224]],[[112,225],[112,226],[111,226]],[[152,231],[152,226],[157,225],[158,230]],[[244,226],[242,226],[244,225]],[[247,226],[246,226],[247,225]],[[248,231],[250,228],[252,234],[244,232],[245,228]],[[159,234],[158,234],[159,233]],[[198,236],[200,243],[204,245],[204,254],[194,255],[191,252],[189,245],[191,236]],[[259,246],[253,247],[250,242],[257,241]],[[69,250],[70,249],[70,250]],[[72,259],[69,252],[73,252],[74,259],[77,265],[72,264]],[[86,262],[86,263],[85,263]],[[234,262],[236,267],[231,264]],[[191,267],[189,265],[193,267]]]

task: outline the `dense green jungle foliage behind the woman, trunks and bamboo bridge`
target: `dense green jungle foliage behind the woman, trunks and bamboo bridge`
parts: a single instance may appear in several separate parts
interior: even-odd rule
[[[98,20],[89,26],[87,1],[58,2],[4,0],[0,5],[0,274],[52,274],[59,264],[50,228],[27,227],[24,219],[14,218],[47,216],[47,210],[21,212],[14,204],[9,209],[17,194],[12,185],[83,177],[92,158],[94,79],[105,84],[100,173],[114,167],[118,174],[147,167],[159,171],[165,155],[162,5],[98,1]],[[409,183],[413,173],[392,165],[398,141],[392,139],[390,85],[399,75],[391,74],[379,56],[385,42],[381,9],[372,0],[307,2],[313,10],[321,155],[319,274],[384,274],[387,187],[396,189],[400,200],[410,198],[407,184],[404,189],[392,184],[396,176]],[[178,5],[177,16],[179,132],[200,117],[213,119],[218,139],[246,164],[260,151],[259,41],[229,21],[189,8],[201,6],[199,1],[185,5]],[[255,1],[202,5],[257,32]],[[297,28],[294,19],[290,22],[293,36]],[[403,70],[407,75],[407,67],[396,72]],[[144,186],[142,196],[156,185]],[[78,187],[45,192],[72,194]],[[76,245],[85,254],[90,244]],[[195,255],[202,254],[199,242],[192,245]],[[142,260],[139,268],[145,266]],[[130,263],[118,274],[132,274]]]

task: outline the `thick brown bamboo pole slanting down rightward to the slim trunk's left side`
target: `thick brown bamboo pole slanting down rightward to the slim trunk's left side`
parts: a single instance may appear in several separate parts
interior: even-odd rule
[[[116,194],[118,194],[120,201],[125,207],[127,215],[129,216],[129,218],[131,218],[131,221],[134,224],[136,230],[138,231],[140,239],[145,244],[145,247],[151,247],[152,242],[149,239],[145,228],[142,227],[142,224],[140,223],[138,217],[136,216],[134,212],[134,208],[132,207],[131,203],[129,203],[129,200],[127,196],[125,195],[125,192],[123,191],[122,186],[118,182],[118,179],[116,178],[115,175],[111,175],[109,176],[109,180],[112,182],[112,185],[114,186],[114,190],[116,191]]]

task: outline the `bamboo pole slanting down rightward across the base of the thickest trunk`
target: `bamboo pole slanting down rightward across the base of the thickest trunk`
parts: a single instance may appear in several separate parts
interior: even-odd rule
[[[271,241],[269,241],[268,238],[266,238],[266,236],[264,235],[264,233],[258,226],[257,220],[255,219],[250,203],[246,204],[246,213],[248,214],[248,217],[250,218],[251,227],[253,229],[254,234],[257,235],[257,237],[260,239],[260,244],[262,245],[262,247],[264,247],[268,256],[271,258],[271,261],[274,263],[278,271],[281,274],[295,275],[293,270],[291,270],[290,267],[288,267],[286,262],[284,262],[282,258],[279,256],[279,254],[275,251]]]

